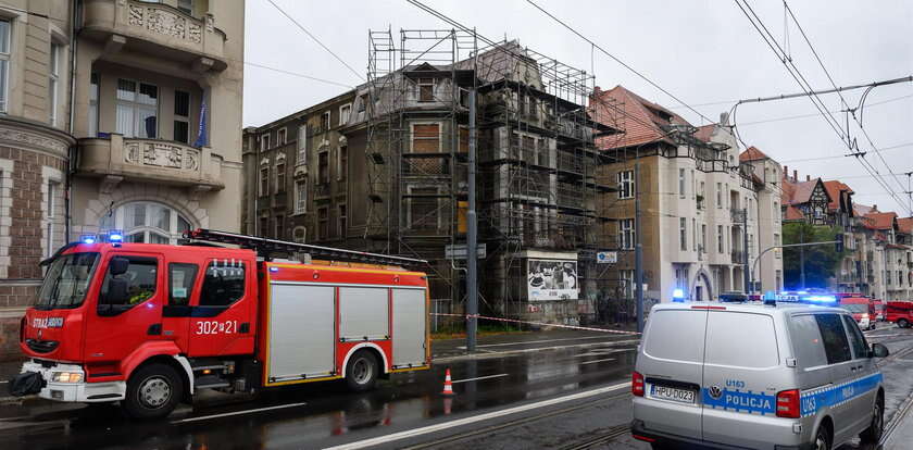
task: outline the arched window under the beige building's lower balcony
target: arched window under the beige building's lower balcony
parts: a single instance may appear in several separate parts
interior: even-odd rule
[[[121,229],[125,242],[177,243],[190,221],[163,203],[137,201],[126,203],[101,218],[101,234]]]

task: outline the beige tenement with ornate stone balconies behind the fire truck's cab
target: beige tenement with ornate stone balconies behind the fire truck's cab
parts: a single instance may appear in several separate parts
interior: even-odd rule
[[[0,358],[65,242],[239,228],[243,12],[0,0]]]

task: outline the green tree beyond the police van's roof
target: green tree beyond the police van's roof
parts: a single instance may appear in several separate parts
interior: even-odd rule
[[[833,241],[840,230],[836,227],[815,226],[804,222],[783,224],[783,243]],[[837,267],[846,252],[837,252],[833,243],[803,247],[805,252],[806,288],[826,288],[828,278],[836,276]],[[787,289],[801,288],[800,248],[787,248],[783,252],[784,286]]]

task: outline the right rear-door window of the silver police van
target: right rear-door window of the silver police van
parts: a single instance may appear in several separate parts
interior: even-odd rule
[[[779,365],[774,320],[768,315],[711,311],[705,342],[706,364],[751,368]],[[751,342],[751,351],[746,351],[746,342]]]

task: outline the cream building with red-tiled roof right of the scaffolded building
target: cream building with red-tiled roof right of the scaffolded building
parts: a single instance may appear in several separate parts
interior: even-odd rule
[[[603,183],[618,184],[606,211],[613,220],[606,226],[618,236],[618,263],[609,275],[617,298],[634,296],[635,198],[641,203],[645,298],[715,300],[721,292],[746,291],[745,261],[751,265],[759,249],[780,239],[774,193],[779,164],[754,148],[740,154],[725,114],[718,124],[693,127],[622,86],[597,96],[623,105],[626,116],[624,135],[599,141],[617,161],[601,174]],[[778,252],[762,258],[755,272],[759,289],[781,288]]]

